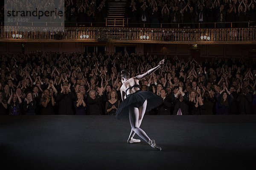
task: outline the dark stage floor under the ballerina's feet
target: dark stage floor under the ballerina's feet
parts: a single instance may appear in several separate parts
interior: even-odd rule
[[[256,115],[146,115],[141,127],[162,151],[126,143],[129,122],[114,116],[0,116],[0,169],[255,168]]]

